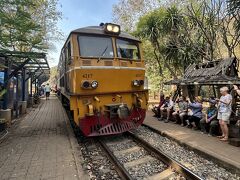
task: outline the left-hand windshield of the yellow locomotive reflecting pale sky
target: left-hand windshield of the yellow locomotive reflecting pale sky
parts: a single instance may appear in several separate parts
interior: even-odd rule
[[[113,58],[112,39],[110,37],[79,36],[82,57]]]

